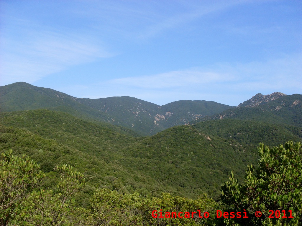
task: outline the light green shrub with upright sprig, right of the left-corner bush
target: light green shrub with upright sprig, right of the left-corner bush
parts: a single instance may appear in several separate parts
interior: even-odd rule
[[[61,179],[56,192],[40,190],[31,193],[25,206],[30,206],[22,215],[28,225],[69,225],[69,213],[73,207],[74,194],[84,185],[83,174],[73,171],[71,166],[56,166]]]

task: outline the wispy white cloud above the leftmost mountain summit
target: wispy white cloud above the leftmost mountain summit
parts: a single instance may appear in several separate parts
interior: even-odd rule
[[[26,27],[26,25],[24,25]],[[112,54],[89,36],[53,29],[20,29],[21,38],[2,37],[1,81],[32,83],[47,75]]]

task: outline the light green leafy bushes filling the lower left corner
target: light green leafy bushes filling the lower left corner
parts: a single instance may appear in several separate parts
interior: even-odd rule
[[[69,225],[73,195],[84,185],[83,174],[67,165],[56,166],[60,181],[56,192],[35,191],[44,176],[29,158],[1,154],[1,225]]]

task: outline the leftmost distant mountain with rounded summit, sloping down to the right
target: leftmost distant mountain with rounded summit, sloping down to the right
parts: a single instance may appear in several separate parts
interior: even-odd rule
[[[112,122],[114,120],[102,111],[87,107],[86,105],[79,103],[76,99],[77,98],[65,93],[53,89],[33,86],[25,82],[18,82],[0,87],[1,112],[44,108],[66,112],[85,119],[106,122]]]

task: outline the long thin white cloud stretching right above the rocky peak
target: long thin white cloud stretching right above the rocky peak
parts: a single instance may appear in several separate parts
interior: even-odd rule
[[[170,71],[161,74],[125,77],[108,80],[102,85],[110,89],[120,90],[120,94],[128,95],[133,88],[146,89],[150,92],[163,89],[178,89],[191,87],[183,92],[198,92],[198,87],[203,87],[207,92],[242,92],[249,90],[255,92],[275,92],[276,90],[291,93],[291,89],[300,90],[302,82],[302,55],[286,56],[267,61],[255,61],[245,64],[220,63],[207,68],[191,68],[182,71]],[[294,84],[292,81],[296,81]],[[121,87],[124,87],[121,89]],[[216,89],[213,89],[216,88]],[[217,90],[218,89],[218,90]],[[122,91],[123,90],[123,91]],[[124,93],[123,93],[124,92]],[[250,94],[249,94],[250,95]]]

